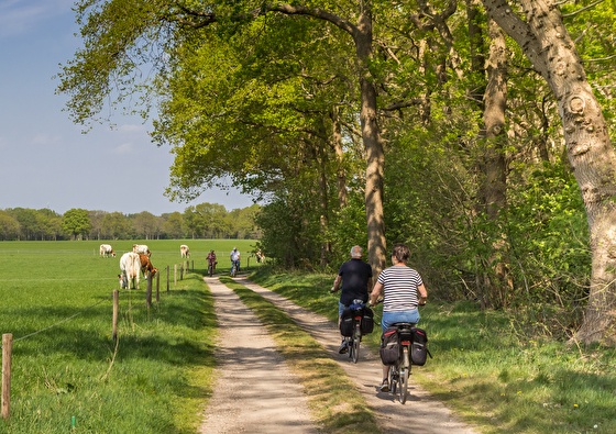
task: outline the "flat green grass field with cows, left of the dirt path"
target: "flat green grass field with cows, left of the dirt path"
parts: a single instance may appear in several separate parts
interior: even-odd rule
[[[109,243],[118,256],[99,256]],[[161,269],[160,302],[120,291],[118,340],[112,292],[120,255],[147,244]],[[194,267],[173,278],[179,245]],[[11,407],[0,433],[194,433],[211,393],[216,322],[202,281],[206,256],[228,272],[237,246],[242,267],[253,241],[82,241],[0,243],[0,333],[12,334]],[[170,288],[166,290],[165,268]],[[179,279],[179,277],[178,277]]]

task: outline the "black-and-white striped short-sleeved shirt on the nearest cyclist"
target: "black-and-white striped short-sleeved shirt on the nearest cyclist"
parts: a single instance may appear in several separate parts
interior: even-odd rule
[[[424,285],[419,272],[406,266],[394,266],[381,271],[378,282],[383,285],[383,312],[417,309],[417,288]]]

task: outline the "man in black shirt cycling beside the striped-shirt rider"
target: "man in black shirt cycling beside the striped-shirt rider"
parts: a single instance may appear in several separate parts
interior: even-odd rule
[[[340,289],[342,282],[342,290],[340,291],[340,300],[338,302],[338,325],[340,327],[340,316],[345,308],[351,305],[353,300],[362,300],[364,303],[369,298],[369,290],[372,287],[372,267],[362,260],[362,247],[351,247],[351,259],[346,260],[340,266],[338,276],[333,281],[330,292],[336,292]],[[349,350],[346,341],[342,338],[342,344],[338,353],[344,354]]]

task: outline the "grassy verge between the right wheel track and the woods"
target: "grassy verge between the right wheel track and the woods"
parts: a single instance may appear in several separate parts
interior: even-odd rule
[[[334,320],[333,277],[261,269],[251,279]],[[431,302],[421,315],[435,358],[414,381],[485,433],[616,432],[614,348],[519,336],[503,313],[472,303]]]

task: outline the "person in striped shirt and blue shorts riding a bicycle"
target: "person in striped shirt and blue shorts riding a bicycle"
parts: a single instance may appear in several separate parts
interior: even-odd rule
[[[383,297],[383,319],[381,320],[383,331],[399,322],[417,324],[419,322],[417,307],[426,304],[428,299],[428,291],[421,276],[407,266],[409,257],[409,248],[404,244],[396,244],[392,252],[394,265],[381,271],[370,294],[370,304],[373,305],[376,304],[378,298]],[[383,365],[382,392],[389,391],[388,376],[389,366]]]

